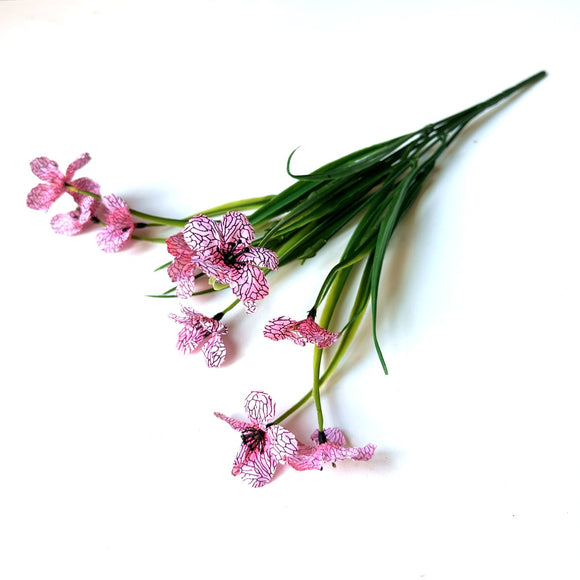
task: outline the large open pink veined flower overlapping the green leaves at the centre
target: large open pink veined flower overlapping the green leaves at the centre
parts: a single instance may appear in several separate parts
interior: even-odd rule
[[[221,221],[199,215],[183,230],[185,242],[196,253],[200,269],[220,284],[229,284],[248,312],[257,300],[268,295],[266,276],[261,268],[278,268],[278,256],[271,250],[251,246],[254,228],[239,211],[226,213]]]

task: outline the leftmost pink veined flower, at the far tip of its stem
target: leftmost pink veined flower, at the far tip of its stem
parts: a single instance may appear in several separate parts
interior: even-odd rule
[[[40,183],[28,194],[26,204],[31,209],[48,211],[52,204],[66,192],[66,186],[71,186],[79,191],[88,191],[99,195],[99,184],[87,177],[74,179],[74,174],[91,160],[88,153],[84,153],[73,161],[63,174],[58,164],[47,157],[37,157],[30,163],[32,173],[45,183]],[[70,195],[75,201],[76,209],[63,214],[55,215],[50,224],[52,229],[63,235],[78,234],[86,224],[91,222],[99,207],[99,199],[90,195],[71,191]]]

